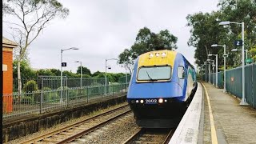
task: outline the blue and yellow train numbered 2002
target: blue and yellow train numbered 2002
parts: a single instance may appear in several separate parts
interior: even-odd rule
[[[194,66],[174,50],[154,50],[134,61],[127,101],[138,126],[178,126],[197,90]]]

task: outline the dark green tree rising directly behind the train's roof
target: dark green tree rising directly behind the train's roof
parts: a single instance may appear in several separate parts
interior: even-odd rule
[[[173,50],[177,49],[176,43],[178,38],[170,34],[169,30],[161,30],[158,34],[144,27],[138,31],[134,45],[130,49],[125,49],[118,56],[118,63],[132,73],[134,60],[138,55],[153,50]]]

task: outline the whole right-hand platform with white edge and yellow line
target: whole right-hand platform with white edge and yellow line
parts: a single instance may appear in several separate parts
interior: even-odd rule
[[[255,143],[256,110],[207,82],[198,90],[169,143]]]

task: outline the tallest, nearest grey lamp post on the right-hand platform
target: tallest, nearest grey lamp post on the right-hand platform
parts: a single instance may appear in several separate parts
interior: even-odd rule
[[[245,34],[244,34],[244,30],[245,30],[245,23],[241,22],[230,22],[230,21],[226,21],[226,22],[220,22],[218,25],[220,26],[224,26],[224,25],[230,25],[230,23],[234,23],[234,24],[238,24],[238,25],[242,25],[242,100],[240,102],[240,105],[248,105],[248,103],[246,102],[246,97],[245,97]]]

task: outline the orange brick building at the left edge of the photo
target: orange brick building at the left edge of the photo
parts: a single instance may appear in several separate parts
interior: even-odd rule
[[[2,37],[2,109],[4,113],[13,110],[13,49],[18,44]]]

